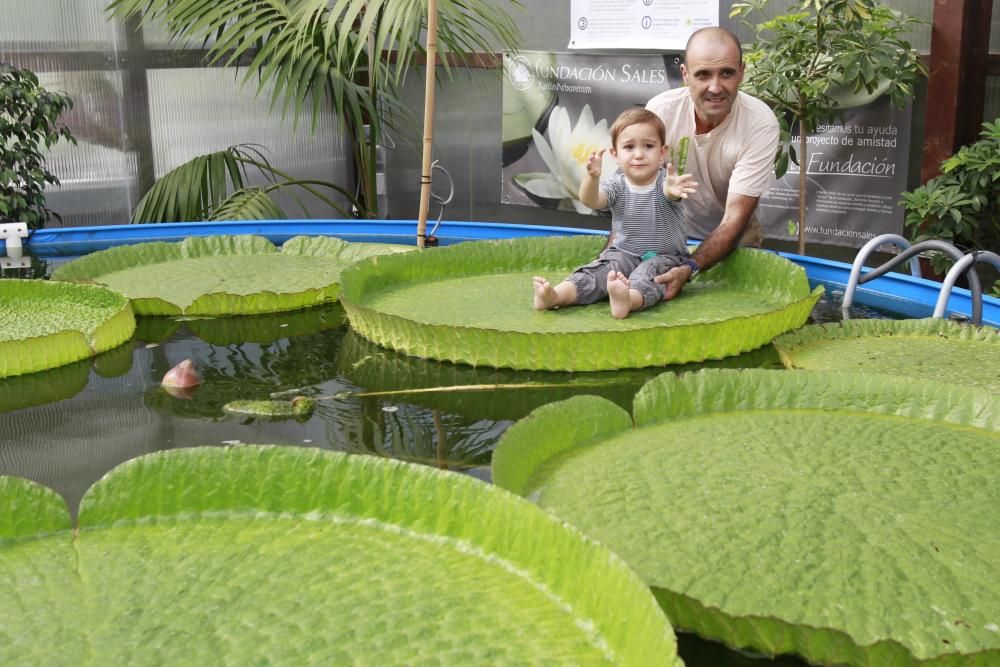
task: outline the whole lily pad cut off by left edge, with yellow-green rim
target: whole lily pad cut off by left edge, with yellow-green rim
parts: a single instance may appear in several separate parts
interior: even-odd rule
[[[48,280],[0,280],[0,322],[0,378],[86,359],[135,331],[121,294]]]

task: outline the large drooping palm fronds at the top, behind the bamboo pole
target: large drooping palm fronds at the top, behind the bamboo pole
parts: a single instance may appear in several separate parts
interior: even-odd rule
[[[297,124],[302,114],[317,128],[329,101],[341,129],[354,141],[357,171],[364,175],[363,215],[377,212],[370,161],[372,144],[383,129],[409,129],[407,106],[400,97],[414,56],[425,51],[428,0],[113,0],[110,16],[141,17],[159,22],[175,41],[208,45],[211,62],[239,66],[250,58],[243,84],[256,80],[260,95],[269,91],[272,110]],[[516,50],[519,32],[506,8],[522,9],[520,0],[439,0],[438,50],[467,62],[475,52]],[[369,37],[371,39],[369,40]],[[394,52],[395,58],[383,53]],[[402,121],[402,122],[401,122]],[[367,134],[365,128],[368,128]],[[219,166],[210,164],[218,180]],[[194,199],[192,186],[205,180],[188,173],[188,186],[156,193],[162,210],[180,211]],[[233,181],[234,186],[236,181]],[[204,204],[218,204],[211,191]],[[174,204],[168,205],[167,202]],[[352,202],[357,203],[357,202]],[[191,209],[183,212],[190,214]],[[145,216],[143,216],[145,217]]]

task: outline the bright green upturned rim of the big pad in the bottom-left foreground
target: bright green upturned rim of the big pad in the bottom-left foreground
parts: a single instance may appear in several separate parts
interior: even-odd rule
[[[577,622],[593,624],[623,664],[679,664],[669,623],[621,559],[530,503],[464,475],[268,445],[156,452],[118,466],[87,491],[78,535],[55,492],[17,478],[0,482],[11,508],[0,512],[0,549],[60,532],[68,544],[105,529],[182,526],[199,516],[374,522],[518,572],[568,605]]]

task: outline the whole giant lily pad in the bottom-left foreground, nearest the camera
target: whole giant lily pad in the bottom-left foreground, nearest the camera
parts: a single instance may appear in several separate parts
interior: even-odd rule
[[[604,547],[471,478],[277,447],[140,457],[84,497],[0,478],[0,661],[673,664]]]

